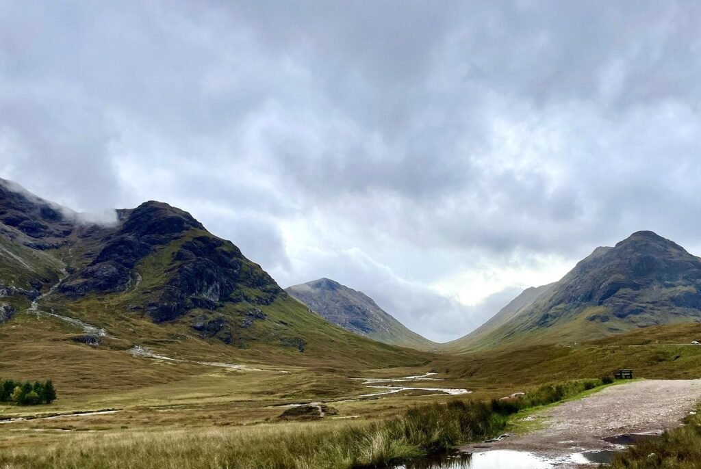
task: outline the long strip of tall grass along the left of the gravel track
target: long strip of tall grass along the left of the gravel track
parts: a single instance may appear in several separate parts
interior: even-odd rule
[[[500,433],[511,414],[601,385],[570,381],[517,401],[453,400],[371,423],[282,423],[197,432],[76,435],[70,444],[10,450],[2,469],[348,469],[388,465]]]

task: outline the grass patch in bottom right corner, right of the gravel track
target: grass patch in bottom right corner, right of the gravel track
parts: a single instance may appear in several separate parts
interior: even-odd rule
[[[701,468],[701,405],[686,426],[629,447],[615,456],[612,469]]]

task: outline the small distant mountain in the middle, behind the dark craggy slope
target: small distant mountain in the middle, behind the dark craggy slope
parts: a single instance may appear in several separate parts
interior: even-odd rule
[[[404,327],[365,293],[336,281],[318,279],[285,288],[285,291],[327,321],[355,334],[416,349],[437,345]]]

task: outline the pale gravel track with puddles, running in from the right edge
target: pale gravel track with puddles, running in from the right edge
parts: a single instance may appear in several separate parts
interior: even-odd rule
[[[541,430],[479,445],[519,449],[558,457],[585,450],[615,449],[601,438],[623,433],[652,433],[681,425],[701,400],[701,379],[645,380],[611,386],[587,398],[535,414]],[[467,451],[484,451],[466,447]]]

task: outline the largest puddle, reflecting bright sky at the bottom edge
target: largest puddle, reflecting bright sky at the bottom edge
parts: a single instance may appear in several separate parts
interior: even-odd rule
[[[397,465],[394,469],[551,469],[557,465],[527,451],[496,449],[473,454],[444,454]]]

